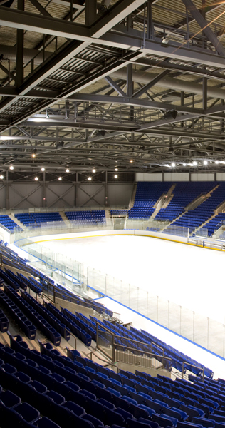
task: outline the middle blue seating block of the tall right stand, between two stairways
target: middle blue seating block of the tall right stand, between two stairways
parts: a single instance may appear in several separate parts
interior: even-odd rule
[[[184,212],[184,208],[202,194],[209,193],[215,187],[214,182],[183,182],[177,183],[173,190],[173,198],[166,208],[159,210],[155,220],[172,221]]]

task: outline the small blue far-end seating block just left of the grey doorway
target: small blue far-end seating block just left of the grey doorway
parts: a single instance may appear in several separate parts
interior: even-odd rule
[[[105,223],[105,210],[65,211],[65,214],[68,220],[78,222],[80,225]]]

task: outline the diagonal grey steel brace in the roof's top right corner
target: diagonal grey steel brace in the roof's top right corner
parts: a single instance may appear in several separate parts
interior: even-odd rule
[[[195,21],[197,21],[197,24],[202,28],[204,31],[204,34],[206,34],[209,41],[211,41],[211,44],[214,45],[214,48],[218,52],[218,54],[225,56],[225,49],[224,46],[221,44],[219,39],[217,39],[216,34],[211,30],[211,27],[207,23],[207,21],[204,19],[204,16],[199,12],[197,7],[194,5],[192,0],[182,0],[184,5],[189,10],[190,14],[192,14]]]

